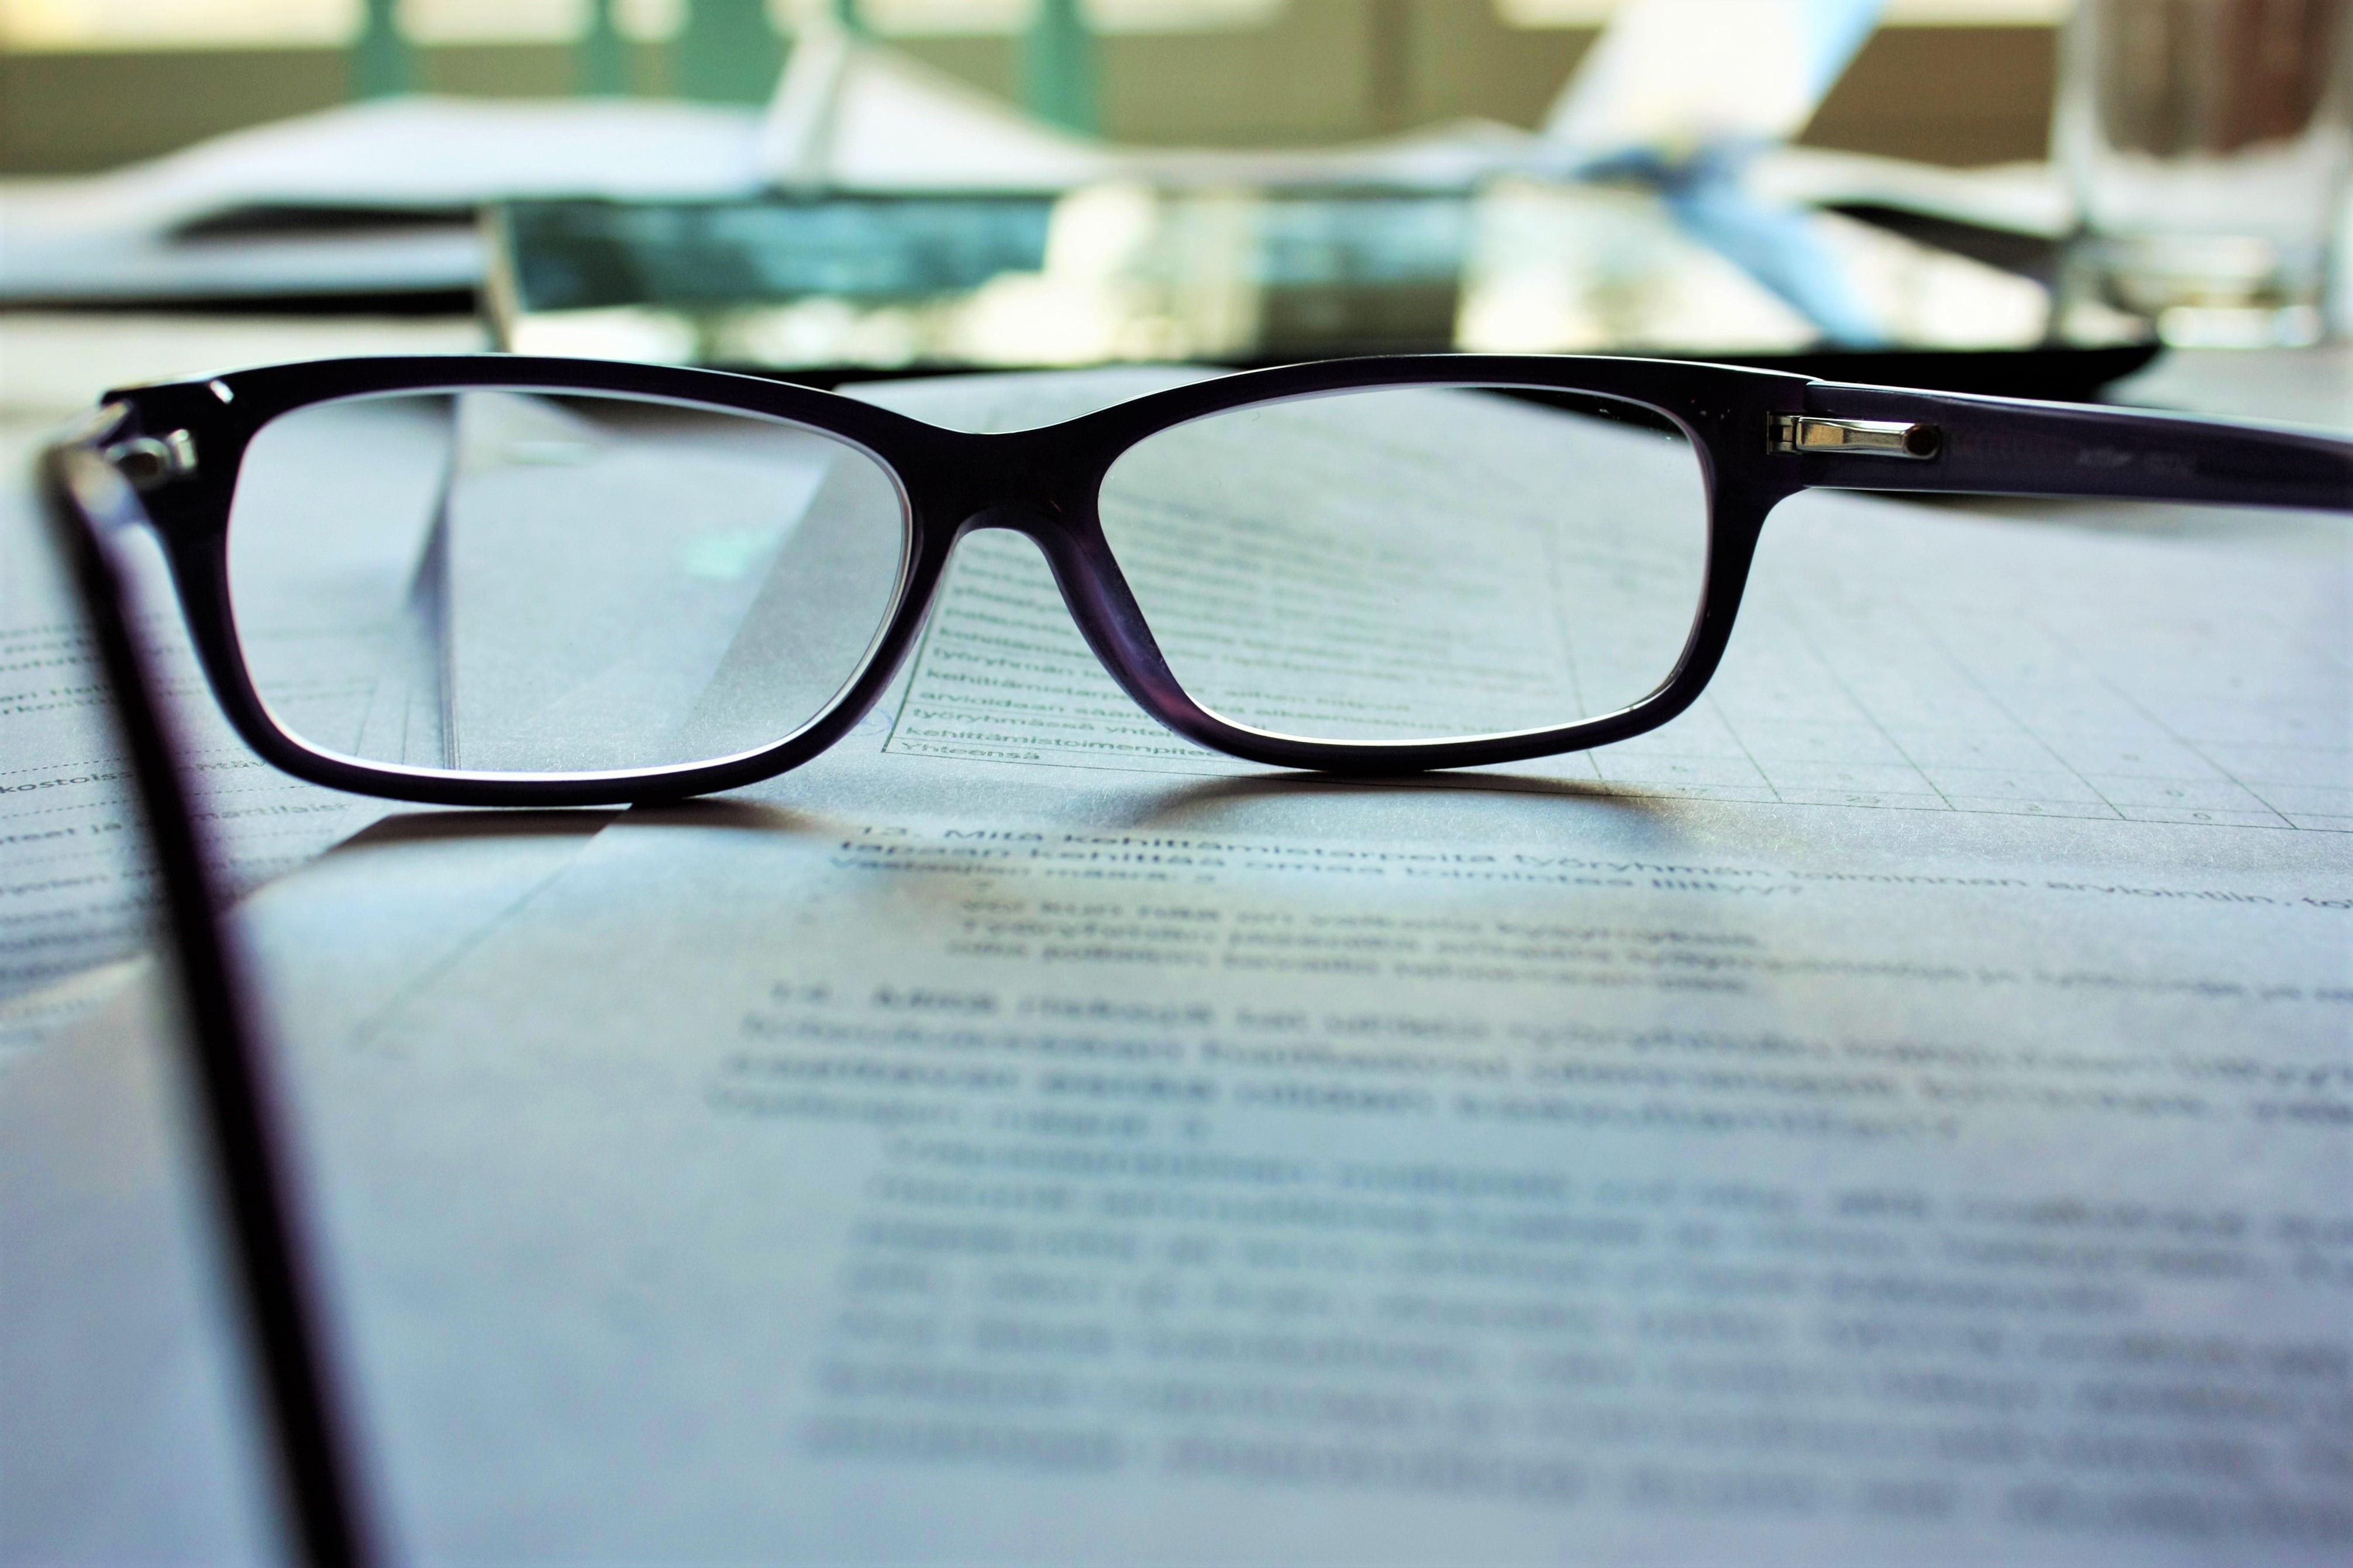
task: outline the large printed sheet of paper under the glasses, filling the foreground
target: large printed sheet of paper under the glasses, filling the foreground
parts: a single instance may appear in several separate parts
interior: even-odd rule
[[[1386,784],[911,756],[960,577],[431,963],[313,961],[428,878],[275,885],[402,1544],[2341,1561],[2341,525],[2019,511],[1793,501],[1701,709]]]

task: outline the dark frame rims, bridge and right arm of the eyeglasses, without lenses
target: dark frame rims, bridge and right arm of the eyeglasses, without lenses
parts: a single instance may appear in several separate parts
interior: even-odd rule
[[[866,664],[807,725],[729,758],[581,775],[362,763],[289,735],[238,647],[228,518],[254,436],[294,410],[346,398],[513,388],[605,393],[781,419],[845,440],[889,471],[906,504],[901,579]],[[1671,421],[1701,464],[1708,558],[1673,673],[1635,704],[1548,730],[1433,742],[1299,739],[1238,725],[1186,695],[1104,539],[1096,499],[1136,443],[1261,403],[1377,388],[1482,388],[1602,398]],[[351,358],[238,370],[108,393],[94,445],[139,490],[198,659],[231,725],[285,772],[431,805],[612,805],[739,789],[807,763],[847,735],[904,664],[958,539],[1026,534],[1045,553],[1087,645],[1176,735],[1273,768],[1395,775],[1518,763],[1605,746],[1692,706],[1732,638],[1765,518],[1802,490],[2113,497],[2353,511],[2353,443],[2179,414],[1814,381],[1772,370],[1579,356],[1393,356],[1254,370],[1176,386],[1064,424],[946,431],[838,393],[760,377],[527,356]],[[332,476],[322,476],[322,483]]]

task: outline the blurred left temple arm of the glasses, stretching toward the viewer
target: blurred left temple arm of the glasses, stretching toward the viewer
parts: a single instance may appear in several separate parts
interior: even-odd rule
[[[132,636],[122,574],[106,537],[139,518],[129,487],[94,445],[120,426],[120,414],[104,410],[78,438],[42,452],[40,504],[80,593],[155,855],[169,918],[167,951],[186,1008],[181,1034],[228,1222],[228,1262],[275,1439],[289,1547],[304,1563],[367,1566],[384,1554],[360,1507],[351,1424],[336,1408],[325,1356],[320,1290],[296,1234],[301,1205],[294,1201],[285,1116],[214,916],[212,876],[188,815],[179,753]]]

